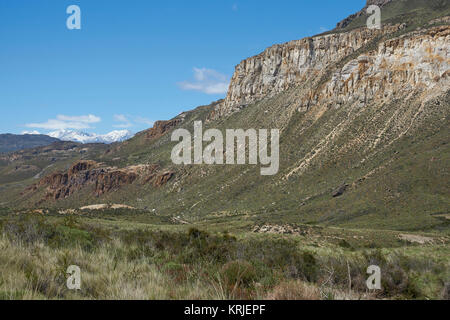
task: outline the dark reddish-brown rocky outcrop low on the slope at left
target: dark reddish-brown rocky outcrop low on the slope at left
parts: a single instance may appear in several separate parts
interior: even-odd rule
[[[53,173],[30,186],[24,195],[45,188],[43,200],[67,198],[86,187],[92,187],[96,196],[117,191],[136,181],[151,183],[155,187],[164,186],[174,172],[159,172],[158,165],[135,165],[125,168],[105,167],[102,163],[84,160],[74,163],[67,172]]]

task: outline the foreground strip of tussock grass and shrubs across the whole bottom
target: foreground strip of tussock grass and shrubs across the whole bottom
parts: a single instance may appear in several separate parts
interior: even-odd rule
[[[448,256],[445,246],[312,248],[291,238],[19,216],[2,222],[0,299],[436,299],[448,296]],[[377,292],[366,289],[370,264],[382,270]],[[81,269],[79,291],[66,287],[70,265]]]

